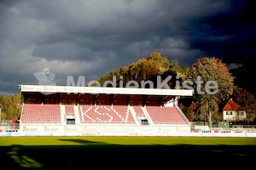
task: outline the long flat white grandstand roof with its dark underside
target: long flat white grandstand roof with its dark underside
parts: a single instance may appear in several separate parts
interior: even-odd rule
[[[91,100],[133,100],[161,101],[166,103],[174,96],[192,96],[193,90],[160,88],[102,88],[19,85],[25,99],[91,99]]]

